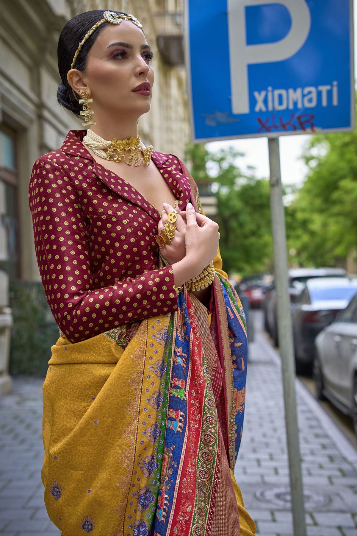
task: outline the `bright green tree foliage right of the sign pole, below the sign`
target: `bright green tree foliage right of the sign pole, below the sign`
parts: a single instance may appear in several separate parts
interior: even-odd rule
[[[309,173],[287,210],[290,248],[302,266],[335,266],[357,248],[357,132],[317,135]]]

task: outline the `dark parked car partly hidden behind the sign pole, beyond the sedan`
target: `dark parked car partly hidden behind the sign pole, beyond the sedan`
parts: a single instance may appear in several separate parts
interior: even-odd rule
[[[346,270],[343,268],[294,268],[288,271],[288,289],[291,303],[295,303],[306,285],[308,279],[315,277],[346,277]],[[264,316],[264,328],[278,346],[278,323],[276,306],[276,288],[272,281],[264,292],[262,302]]]

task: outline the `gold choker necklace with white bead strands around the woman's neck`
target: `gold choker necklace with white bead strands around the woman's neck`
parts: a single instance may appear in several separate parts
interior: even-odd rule
[[[128,166],[131,166],[133,161],[134,166],[140,166],[142,163],[148,166],[153,148],[152,145],[145,147],[139,136],[130,139],[113,138],[108,142],[90,129],[87,130],[83,143],[98,157],[115,162],[125,162]]]

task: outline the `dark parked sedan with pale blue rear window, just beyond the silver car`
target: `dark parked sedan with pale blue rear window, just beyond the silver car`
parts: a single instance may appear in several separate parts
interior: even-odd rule
[[[357,293],[357,279],[324,277],[308,279],[292,311],[297,371],[311,370],[315,338],[345,309]]]

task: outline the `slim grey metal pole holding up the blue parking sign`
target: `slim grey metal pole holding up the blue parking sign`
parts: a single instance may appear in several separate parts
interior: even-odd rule
[[[279,138],[269,138],[270,209],[277,293],[278,337],[282,359],[287,451],[295,536],[306,535],[303,505],[298,416],[295,398],[295,359],[288,294],[286,232],[280,175]]]

